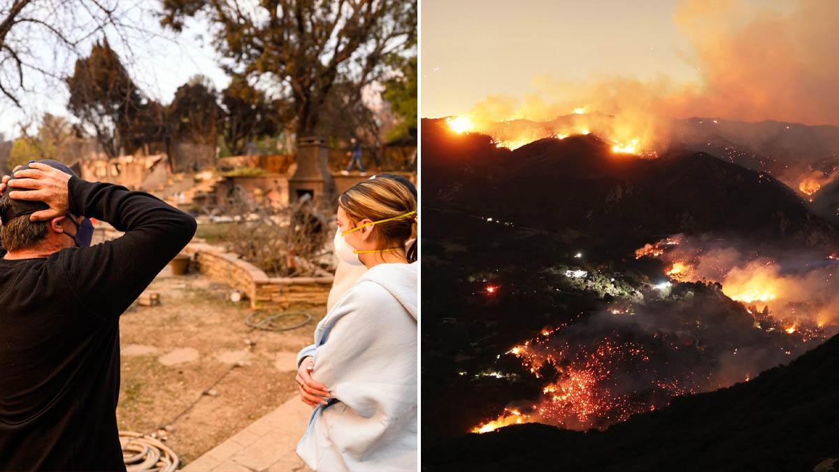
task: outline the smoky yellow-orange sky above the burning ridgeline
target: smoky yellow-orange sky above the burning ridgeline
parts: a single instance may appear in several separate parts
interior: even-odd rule
[[[839,125],[836,18],[824,0],[423,0],[421,115],[480,104],[539,120],[629,100],[677,118]]]

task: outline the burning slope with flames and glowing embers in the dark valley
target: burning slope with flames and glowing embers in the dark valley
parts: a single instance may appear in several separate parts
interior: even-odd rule
[[[839,296],[828,290],[836,269],[829,257],[796,273],[784,265],[800,260],[681,234],[634,255],[662,261],[666,282],[650,282],[641,296],[607,297],[606,310],[544,328],[500,354],[517,359],[519,375],[539,382],[541,394],[513,401],[472,433],[524,422],[604,429],[675,396],[748,381],[836,332]],[[590,277],[578,268],[560,272],[580,287]]]

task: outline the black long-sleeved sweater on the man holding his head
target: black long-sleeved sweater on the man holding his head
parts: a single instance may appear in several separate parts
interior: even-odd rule
[[[125,234],[0,259],[2,470],[125,470],[119,317],[195,234],[194,218],[147,193],[76,177],[69,191],[71,213]]]

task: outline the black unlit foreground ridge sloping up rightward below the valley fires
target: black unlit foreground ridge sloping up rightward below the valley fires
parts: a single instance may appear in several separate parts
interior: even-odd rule
[[[750,382],[676,398],[605,432],[523,424],[423,442],[428,470],[812,470],[837,456],[839,336]]]

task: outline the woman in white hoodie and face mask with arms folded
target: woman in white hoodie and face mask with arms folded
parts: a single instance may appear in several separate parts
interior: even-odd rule
[[[315,470],[414,470],[417,460],[416,200],[391,179],[339,198],[336,254],[367,272],[298,354],[315,406],[297,454]]]

